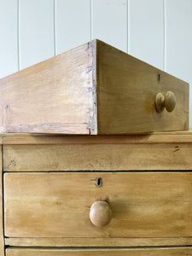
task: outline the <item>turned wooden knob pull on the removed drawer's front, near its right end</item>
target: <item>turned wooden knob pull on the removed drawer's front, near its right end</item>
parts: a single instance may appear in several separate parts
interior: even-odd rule
[[[155,108],[157,112],[162,112],[164,108],[166,111],[172,112],[176,106],[176,96],[172,91],[167,91],[166,96],[159,92],[155,97]]]

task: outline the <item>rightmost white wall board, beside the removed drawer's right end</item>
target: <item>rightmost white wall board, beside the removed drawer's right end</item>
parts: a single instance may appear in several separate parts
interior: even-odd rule
[[[166,0],[166,72],[190,84],[192,127],[192,0]]]

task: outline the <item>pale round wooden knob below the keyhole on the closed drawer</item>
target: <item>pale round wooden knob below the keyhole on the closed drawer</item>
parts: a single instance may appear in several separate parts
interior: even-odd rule
[[[107,201],[95,201],[90,207],[90,221],[102,227],[109,224],[112,219],[112,210]]]

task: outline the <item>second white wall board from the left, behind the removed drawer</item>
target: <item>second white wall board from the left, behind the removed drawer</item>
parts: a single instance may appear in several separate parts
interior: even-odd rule
[[[19,0],[20,69],[55,55],[54,0]]]

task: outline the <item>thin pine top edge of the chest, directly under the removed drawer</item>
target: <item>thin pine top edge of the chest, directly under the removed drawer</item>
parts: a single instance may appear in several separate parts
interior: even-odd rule
[[[61,136],[53,134],[3,133],[1,144],[127,144],[127,143],[192,143],[192,131],[166,131],[135,135]]]

